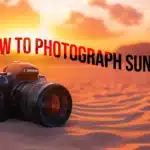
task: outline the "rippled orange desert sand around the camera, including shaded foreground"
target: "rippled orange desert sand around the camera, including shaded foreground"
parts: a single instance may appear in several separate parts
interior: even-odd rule
[[[72,115],[61,128],[1,123],[0,150],[150,150],[148,73],[83,64],[37,65],[49,81],[69,89]]]

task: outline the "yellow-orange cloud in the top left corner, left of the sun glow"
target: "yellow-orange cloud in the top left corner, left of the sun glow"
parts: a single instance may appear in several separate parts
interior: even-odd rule
[[[34,28],[37,27],[40,18],[35,13],[26,1],[11,1],[0,2],[0,28],[5,30],[19,28]]]

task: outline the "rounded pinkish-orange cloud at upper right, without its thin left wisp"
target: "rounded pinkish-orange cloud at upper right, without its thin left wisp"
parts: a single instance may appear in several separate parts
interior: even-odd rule
[[[142,19],[142,13],[130,6],[113,4],[108,6],[108,10],[113,19],[126,26],[138,25]]]

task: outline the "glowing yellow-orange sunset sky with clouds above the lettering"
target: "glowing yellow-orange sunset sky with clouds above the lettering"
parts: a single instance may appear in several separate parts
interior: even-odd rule
[[[114,51],[149,42],[149,0],[0,0],[0,36],[44,37]]]

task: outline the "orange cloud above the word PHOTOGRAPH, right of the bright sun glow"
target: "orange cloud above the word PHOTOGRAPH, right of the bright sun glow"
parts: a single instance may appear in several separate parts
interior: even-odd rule
[[[90,18],[78,12],[72,12],[70,18],[57,27],[57,31],[74,39],[100,39],[122,34],[110,31],[104,24],[104,20]]]

